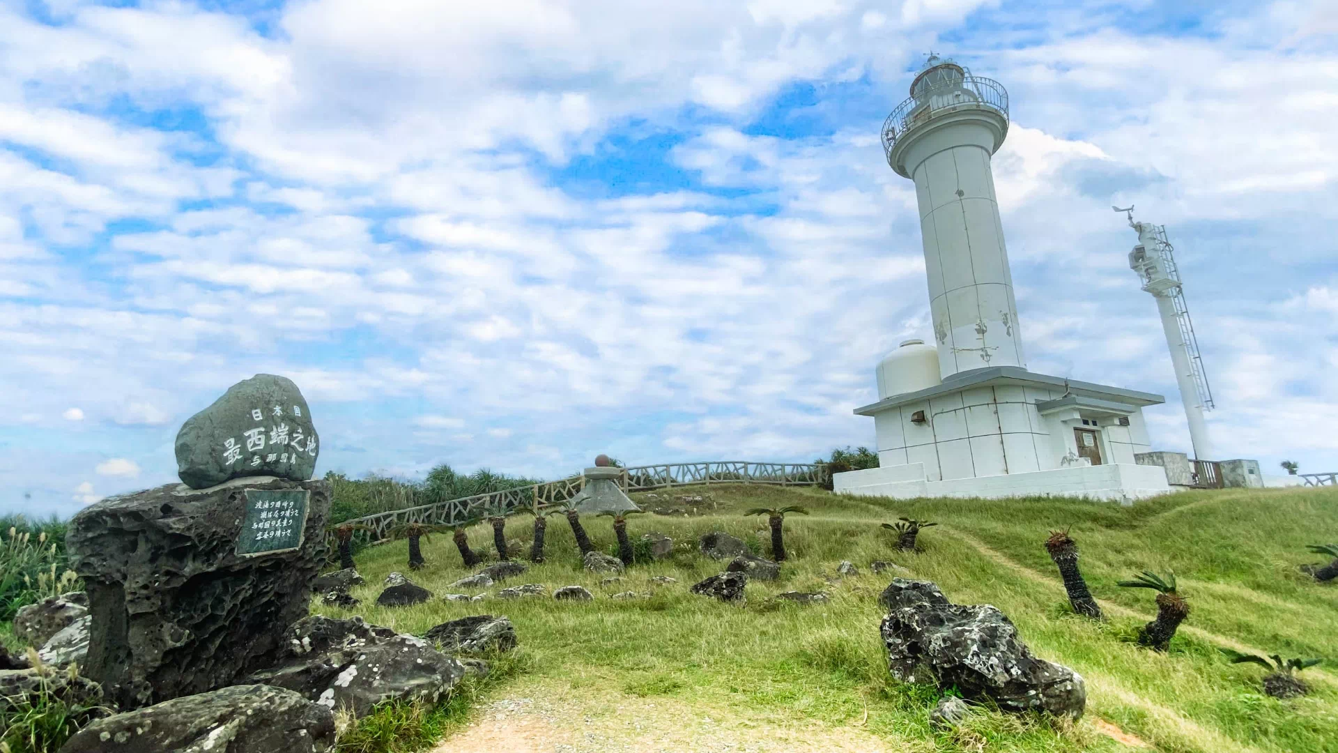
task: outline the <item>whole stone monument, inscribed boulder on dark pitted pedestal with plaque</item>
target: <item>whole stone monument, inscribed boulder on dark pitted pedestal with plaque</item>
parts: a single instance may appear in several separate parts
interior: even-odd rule
[[[108,497],[70,524],[92,616],[86,674],[122,709],[272,666],[328,555],[329,490],[297,386],[233,386],[177,438],[185,484]]]

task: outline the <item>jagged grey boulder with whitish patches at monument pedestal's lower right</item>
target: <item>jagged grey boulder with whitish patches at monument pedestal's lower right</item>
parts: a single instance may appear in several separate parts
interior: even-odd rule
[[[361,618],[312,615],[285,636],[280,661],[248,682],[286,687],[355,717],[388,699],[434,702],[464,675],[459,662],[428,642]]]

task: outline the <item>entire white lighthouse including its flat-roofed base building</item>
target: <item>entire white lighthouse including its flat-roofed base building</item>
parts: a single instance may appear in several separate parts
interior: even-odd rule
[[[838,492],[887,497],[1169,490],[1143,409],[1161,395],[1026,370],[990,158],[1009,126],[1004,86],[931,55],[883,125],[887,163],[915,181],[933,346],[906,340],[876,370],[879,468]],[[1093,343],[1100,347],[1098,343]]]

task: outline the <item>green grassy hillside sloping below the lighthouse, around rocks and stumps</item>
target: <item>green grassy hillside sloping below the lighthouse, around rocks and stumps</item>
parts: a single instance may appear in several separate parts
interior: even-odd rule
[[[593,603],[434,600],[379,608],[381,579],[407,571],[407,545],[393,543],[360,555],[368,584],[353,592],[364,600],[356,614],[419,634],[470,614],[510,616],[520,648],[503,662],[510,671],[487,685],[482,701],[533,701],[547,709],[543,725],[591,750],[660,749],[637,748],[637,741],[685,750],[697,749],[685,741],[733,736],[745,744],[719,749],[1338,752],[1338,662],[1303,674],[1314,687],[1310,697],[1275,701],[1259,691],[1258,667],[1230,665],[1218,653],[1234,647],[1338,659],[1338,587],[1297,569],[1314,560],[1306,544],[1338,540],[1338,490],[1187,492],[1131,508],[1053,500],[894,502],[767,486],[713,485],[709,492],[720,502],[710,515],[634,516],[629,532],[636,539],[660,531],[690,541],[720,529],[767,553],[764,520],[743,519],[741,510],[787,504],[812,510],[787,517],[791,560],[780,580],[748,586],[747,607],[688,594],[692,583],[721,569],[694,552],[638,564],[622,583],[601,588],[599,576],[578,569],[571,532],[555,517],[549,561],[506,586],[543,583],[551,591],[581,584],[597,595]],[[942,524],[921,535],[923,552],[895,552],[892,536],[879,528],[902,515]],[[611,547],[606,519],[589,519],[586,528],[598,548]],[[1107,623],[1069,614],[1042,547],[1056,528],[1070,528],[1077,540]],[[527,516],[507,527],[508,537],[529,541],[529,535]],[[472,529],[470,540],[475,549],[491,551],[488,527]],[[424,543],[424,555],[428,567],[411,577],[436,594],[470,572],[448,536]],[[927,713],[939,694],[899,685],[886,671],[876,596],[890,577],[868,572],[875,559],[938,583],[954,602],[1001,608],[1037,655],[1086,678],[1086,717],[1065,725],[983,714],[965,729],[934,732]],[[854,561],[862,575],[826,581],[840,560]],[[1155,611],[1152,592],[1115,583],[1140,569],[1173,569],[1189,600],[1192,612],[1168,654],[1132,643],[1135,628]],[[649,583],[654,575],[678,583],[657,587]],[[622,590],[654,596],[607,599]],[[767,603],[789,590],[824,590],[832,600],[815,607]],[[442,748],[454,749],[450,740]]]

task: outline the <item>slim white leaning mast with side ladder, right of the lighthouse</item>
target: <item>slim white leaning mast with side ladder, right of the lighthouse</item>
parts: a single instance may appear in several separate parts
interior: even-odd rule
[[[1184,285],[1175,265],[1175,253],[1167,240],[1164,225],[1135,222],[1133,206],[1120,209],[1129,218],[1129,226],[1139,233],[1139,245],[1129,252],[1129,269],[1139,273],[1143,289],[1152,293],[1161,314],[1161,328],[1171,348],[1171,363],[1175,366],[1176,385],[1184,402],[1184,415],[1189,423],[1189,441],[1193,442],[1195,460],[1212,460],[1212,443],[1208,439],[1208,425],[1203,411],[1212,410],[1212,390],[1208,375],[1203,370],[1203,356],[1199,354],[1199,339],[1189,320],[1189,307],[1184,301]]]

